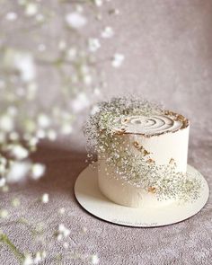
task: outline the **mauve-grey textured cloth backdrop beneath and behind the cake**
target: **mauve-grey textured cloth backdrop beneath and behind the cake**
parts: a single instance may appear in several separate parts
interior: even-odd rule
[[[114,0],[112,4],[119,7],[120,15],[106,23],[117,36],[102,52],[117,49],[126,59],[118,72],[103,66],[108,88],[102,91],[102,98],[139,93],[189,117],[189,163],[202,172],[211,189],[211,1]],[[73,189],[86,156],[81,124],[72,136],[59,139],[55,146],[41,144],[33,155],[35,161],[48,166],[44,178],[0,194],[0,207],[8,208],[10,213],[0,219],[0,227],[17,248],[22,252],[39,251],[43,241],[48,252],[43,264],[57,264],[56,253],[62,254],[62,264],[90,264],[87,257],[93,253],[102,265],[211,264],[211,197],[196,216],[158,228],[113,225],[91,216],[77,204]],[[49,193],[46,205],[37,200],[44,192]],[[11,206],[15,197],[21,199],[19,208]],[[62,216],[58,214],[61,207],[66,208]],[[22,217],[28,225],[16,221]],[[61,223],[71,230],[68,252],[53,236]],[[42,236],[31,233],[35,224],[46,227]],[[0,257],[0,264],[18,264],[4,245],[0,246]]]

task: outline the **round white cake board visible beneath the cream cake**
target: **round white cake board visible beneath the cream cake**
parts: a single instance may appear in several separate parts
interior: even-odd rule
[[[198,171],[188,165],[188,172]],[[172,225],[194,216],[208,201],[208,183],[201,174],[202,190],[194,202],[179,204],[174,201],[160,208],[128,208],[112,202],[102,195],[98,187],[97,169],[88,166],[75,181],[75,197],[80,205],[93,216],[118,225],[155,227]]]

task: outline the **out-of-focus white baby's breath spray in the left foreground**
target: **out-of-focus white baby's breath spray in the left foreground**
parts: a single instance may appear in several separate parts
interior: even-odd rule
[[[2,192],[9,190],[8,185],[29,178],[39,181],[46,172],[46,165],[33,162],[31,154],[37,150],[40,140],[55,141],[60,134],[70,135],[75,128],[74,120],[81,111],[87,110],[92,114],[98,111],[93,102],[106,84],[102,80],[104,75],[100,63],[119,67],[124,60],[119,53],[112,57],[111,62],[110,59],[102,62],[97,57],[97,51],[104,46],[102,39],[112,38],[114,31],[110,26],[103,29],[101,26],[94,32],[93,25],[102,21],[104,13],[119,13],[118,9],[110,6],[104,10],[103,4],[106,1],[56,1],[52,6],[40,0],[4,1],[0,4],[3,14],[0,20],[4,22],[0,40]],[[97,29],[102,31],[98,30],[98,33]],[[18,210],[21,201],[19,198],[11,199],[10,207]],[[49,203],[49,194],[43,193],[38,201],[41,202],[40,208],[45,208],[43,204]],[[0,209],[1,218],[6,218],[9,213],[11,217],[12,211]],[[65,208],[58,211],[60,216],[65,213]],[[71,230],[66,225],[58,225],[57,240],[67,241],[70,234]],[[0,231],[0,243],[1,239]],[[25,265],[40,264],[48,254],[37,250],[20,253],[9,239],[4,243],[21,255]],[[62,245],[64,251],[69,247],[67,242]],[[43,246],[48,248],[48,243],[43,243]],[[90,263],[99,263],[97,255],[85,256],[85,259],[91,258]]]

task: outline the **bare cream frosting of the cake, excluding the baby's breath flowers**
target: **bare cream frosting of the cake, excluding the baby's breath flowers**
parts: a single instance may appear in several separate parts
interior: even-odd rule
[[[135,156],[135,160],[142,154],[148,171],[158,166],[160,173],[165,174],[167,166],[173,165],[175,172],[186,176],[189,128],[188,119],[167,110],[150,117],[126,115],[116,120],[112,131],[114,139],[119,139],[119,151],[130,150],[131,158]],[[153,186],[144,189],[126,181],[130,177],[121,175],[112,163],[109,164],[105,153],[98,155],[98,167],[99,188],[115,203],[130,208],[158,208],[173,201],[158,200]],[[153,171],[152,176],[156,181],[157,173]]]

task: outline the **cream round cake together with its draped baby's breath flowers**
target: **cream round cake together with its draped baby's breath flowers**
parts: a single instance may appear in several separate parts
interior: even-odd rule
[[[187,173],[190,122],[148,102],[115,99],[92,119],[102,194],[130,208],[158,208],[195,199]]]

